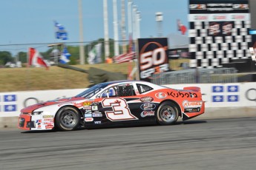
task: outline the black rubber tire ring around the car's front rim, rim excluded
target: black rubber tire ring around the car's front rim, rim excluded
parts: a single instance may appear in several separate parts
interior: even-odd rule
[[[75,113],[75,115],[76,115],[76,123],[73,126],[65,126],[65,124],[63,124],[62,120],[61,120],[62,114],[65,111],[68,111],[68,110],[73,112],[73,113]],[[59,111],[57,112],[56,118],[55,118],[55,123],[56,123],[57,129],[59,129],[61,131],[71,131],[71,130],[74,130],[74,129],[77,128],[77,126],[79,126],[79,112],[75,108],[73,108],[73,107],[65,106],[62,109],[59,109]]]

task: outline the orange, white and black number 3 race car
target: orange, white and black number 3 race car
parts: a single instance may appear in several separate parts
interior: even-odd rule
[[[96,84],[72,98],[28,106],[19,129],[70,131],[78,127],[140,123],[174,124],[205,112],[200,88],[171,89],[145,81]]]

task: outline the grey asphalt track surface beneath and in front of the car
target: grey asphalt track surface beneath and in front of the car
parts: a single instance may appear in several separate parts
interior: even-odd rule
[[[255,117],[0,137],[1,170],[256,169]]]

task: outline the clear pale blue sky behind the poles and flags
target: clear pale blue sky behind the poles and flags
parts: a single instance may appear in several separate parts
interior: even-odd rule
[[[125,0],[126,13],[127,4]],[[113,1],[108,0],[109,38],[114,38],[112,5]],[[121,0],[117,0],[117,5],[118,20],[121,21]],[[141,38],[157,37],[157,12],[163,13],[164,36],[178,33],[177,19],[188,27],[188,0],[134,0],[134,5],[142,16]],[[68,31],[68,40],[64,42],[79,41],[78,0],[1,0],[0,13],[0,51],[17,48],[10,44],[39,46],[57,42],[53,21],[58,21]],[[84,41],[104,38],[103,0],[82,0],[82,21]]]

